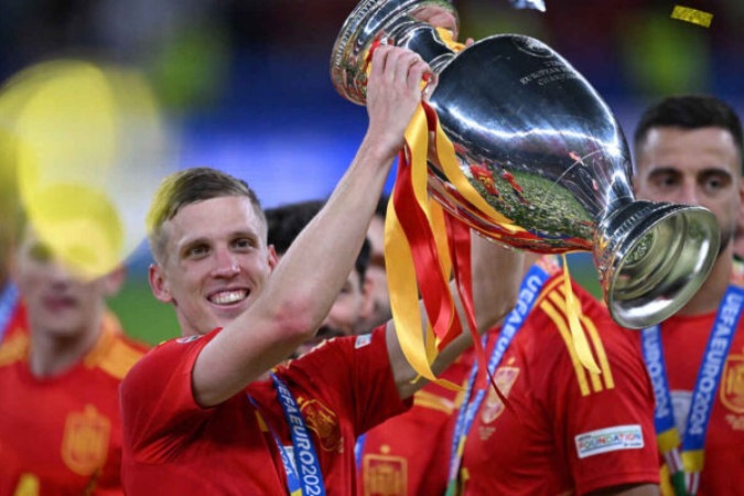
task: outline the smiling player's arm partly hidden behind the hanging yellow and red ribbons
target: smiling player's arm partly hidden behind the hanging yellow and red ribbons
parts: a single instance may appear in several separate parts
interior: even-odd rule
[[[524,276],[525,254],[502,247],[475,234],[472,238],[473,306],[478,334],[483,334],[496,325],[514,308]],[[432,365],[434,374],[443,371],[473,344],[462,305],[457,299],[455,303],[464,331],[460,337],[440,352]],[[422,315],[425,314],[423,308],[421,313]],[[422,326],[421,332],[424,331],[425,328]],[[408,398],[422,388],[427,381],[411,382],[418,375],[400,348],[392,321],[388,322],[386,333],[390,366],[398,386],[398,392],[401,398]]]

